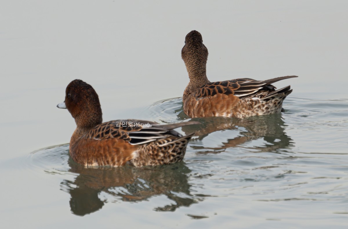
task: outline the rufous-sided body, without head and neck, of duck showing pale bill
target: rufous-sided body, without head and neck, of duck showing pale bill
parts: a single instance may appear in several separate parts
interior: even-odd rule
[[[181,136],[171,129],[177,127],[132,119],[104,122],[87,133],[76,129],[69,151],[74,161],[85,166],[172,164],[183,159],[193,135]]]

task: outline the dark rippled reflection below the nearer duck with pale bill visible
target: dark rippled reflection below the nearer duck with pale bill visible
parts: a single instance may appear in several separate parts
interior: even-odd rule
[[[68,164],[69,172],[78,173],[78,176],[73,181],[63,180],[61,188],[71,195],[71,212],[76,215],[98,211],[106,202],[140,202],[159,195],[175,203],[159,206],[155,211],[175,211],[201,200],[190,194],[188,174],[191,170],[183,162],[143,168],[85,168],[69,158]],[[102,193],[112,196],[111,200],[102,200]]]

